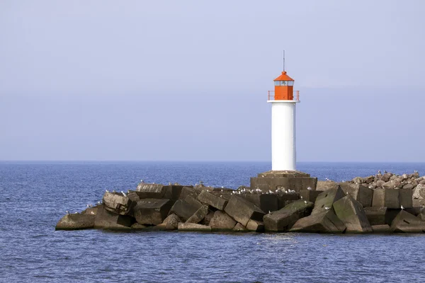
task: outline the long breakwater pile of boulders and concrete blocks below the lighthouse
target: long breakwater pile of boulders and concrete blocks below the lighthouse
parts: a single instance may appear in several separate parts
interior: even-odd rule
[[[312,187],[302,182],[300,187],[294,187],[295,181],[291,184],[289,189],[240,186],[232,190],[202,184],[142,182],[128,192],[106,191],[102,202],[88,206],[83,212],[67,212],[55,229],[239,233],[425,231],[425,176],[419,177],[416,171],[403,175],[378,171],[376,175],[341,183],[319,180]]]

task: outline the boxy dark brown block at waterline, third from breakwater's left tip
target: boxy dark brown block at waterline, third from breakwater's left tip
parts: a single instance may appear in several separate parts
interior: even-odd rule
[[[166,219],[172,205],[171,200],[143,199],[137,202],[133,214],[138,224],[158,225]]]

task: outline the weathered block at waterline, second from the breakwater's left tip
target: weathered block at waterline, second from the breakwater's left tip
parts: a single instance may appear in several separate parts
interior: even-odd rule
[[[105,209],[105,206],[99,207],[94,219],[94,228],[126,230],[133,224],[133,218],[128,215],[115,214]]]

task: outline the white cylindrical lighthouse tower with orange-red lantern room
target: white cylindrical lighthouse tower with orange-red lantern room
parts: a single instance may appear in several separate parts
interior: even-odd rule
[[[283,72],[274,79],[275,90],[268,91],[267,103],[271,103],[271,170],[295,171],[295,108],[300,93],[293,95],[294,80]]]

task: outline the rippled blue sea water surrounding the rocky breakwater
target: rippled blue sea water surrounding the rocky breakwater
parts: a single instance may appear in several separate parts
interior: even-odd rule
[[[105,189],[236,188],[269,163],[0,162],[0,282],[424,282],[425,234],[55,231]],[[425,163],[299,163],[341,181]]]

